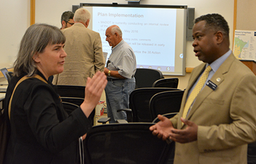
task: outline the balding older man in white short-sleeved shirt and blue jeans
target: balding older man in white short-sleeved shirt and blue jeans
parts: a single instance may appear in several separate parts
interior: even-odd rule
[[[136,56],[132,47],[122,38],[122,30],[116,25],[106,30],[106,41],[112,47],[104,73],[108,76],[105,88],[109,123],[126,119],[126,112],[117,112],[120,108],[129,108],[129,96],[135,89]]]

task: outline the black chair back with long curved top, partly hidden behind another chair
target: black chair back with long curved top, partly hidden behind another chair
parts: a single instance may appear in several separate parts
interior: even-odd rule
[[[132,110],[132,122],[151,123],[152,118],[149,109],[149,101],[154,94],[163,91],[180,91],[180,89],[168,87],[146,87],[134,89],[129,97],[129,107]]]

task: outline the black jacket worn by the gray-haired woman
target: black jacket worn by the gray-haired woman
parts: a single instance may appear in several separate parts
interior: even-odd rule
[[[38,71],[38,75],[44,75]],[[13,77],[5,98],[8,108],[12,91],[20,77]],[[92,128],[81,108],[67,115],[60,96],[38,78],[19,84],[12,99],[11,137],[6,163],[76,163],[78,138]],[[6,112],[7,113],[7,112]]]

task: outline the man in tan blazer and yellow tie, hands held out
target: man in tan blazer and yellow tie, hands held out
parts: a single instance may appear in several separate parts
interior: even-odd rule
[[[176,142],[174,163],[247,163],[247,144],[256,140],[256,77],[229,47],[229,28],[218,14],[195,20],[193,47],[203,64],[191,73],[180,112],[150,127],[154,135]],[[184,105],[198,78],[210,65],[205,86],[188,115]]]

